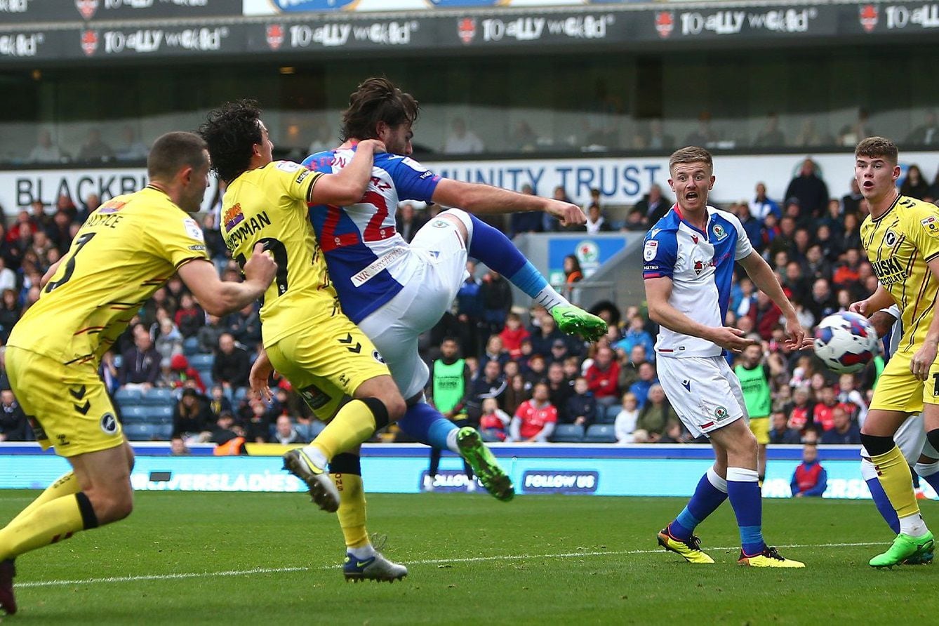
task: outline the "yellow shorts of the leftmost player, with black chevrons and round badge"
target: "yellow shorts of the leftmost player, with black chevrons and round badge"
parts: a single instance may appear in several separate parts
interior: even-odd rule
[[[124,443],[114,405],[94,362],[63,365],[11,345],[7,375],[43,450],[54,447],[61,456],[77,456]]]

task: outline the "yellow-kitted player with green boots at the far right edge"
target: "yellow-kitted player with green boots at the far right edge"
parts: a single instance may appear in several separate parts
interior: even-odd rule
[[[932,533],[916,504],[910,467],[893,436],[910,415],[923,412],[926,436],[939,445],[939,208],[897,191],[897,146],[870,137],[854,150],[854,177],[868,201],[861,243],[877,275],[877,291],[854,302],[854,313],[870,315],[896,303],[903,335],[881,374],[861,429],[861,443],[900,518],[900,534],[872,567],[891,567],[932,551]]]

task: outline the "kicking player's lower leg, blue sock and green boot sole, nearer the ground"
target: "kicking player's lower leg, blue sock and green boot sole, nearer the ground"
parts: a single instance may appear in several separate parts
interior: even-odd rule
[[[485,447],[475,429],[470,428],[472,434],[466,433],[461,440],[460,435],[466,429],[461,430],[454,422],[444,418],[436,408],[425,402],[408,406],[405,417],[398,420],[398,428],[428,446],[438,450],[451,450],[462,456],[469,462],[469,466],[479,477],[485,490],[493,497],[507,501],[515,496],[512,480],[499,466],[492,452]]]

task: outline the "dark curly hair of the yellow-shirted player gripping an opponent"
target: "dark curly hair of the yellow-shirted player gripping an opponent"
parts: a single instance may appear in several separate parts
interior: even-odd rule
[[[225,102],[208,114],[199,135],[208,145],[212,170],[226,183],[251,163],[252,147],[261,143],[261,109],[249,99]]]

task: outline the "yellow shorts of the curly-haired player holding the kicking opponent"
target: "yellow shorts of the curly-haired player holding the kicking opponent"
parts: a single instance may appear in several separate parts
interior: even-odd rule
[[[274,369],[323,421],[363,382],[392,375],[375,345],[342,314],[311,321],[266,349]]]

